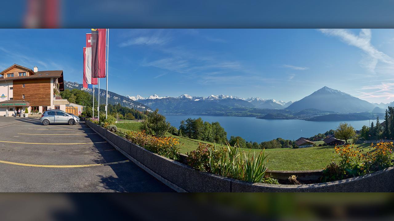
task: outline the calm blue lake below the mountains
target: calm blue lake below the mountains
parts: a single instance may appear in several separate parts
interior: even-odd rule
[[[266,120],[253,117],[197,116],[197,115],[165,115],[168,122],[179,128],[180,121],[188,118],[202,118],[204,121],[219,122],[227,132],[227,137],[241,136],[247,141],[263,142],[281,137],[296,140],[299,137],[310,137],[336,129],[340,122],[315,122],[305,120]],[[371,120],[372,121],[372,120]],[[356,130],[369,125],[369,120],[348,121]]]

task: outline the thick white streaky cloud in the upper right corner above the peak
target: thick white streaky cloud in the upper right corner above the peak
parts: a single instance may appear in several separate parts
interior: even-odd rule
[[[339,37],[342,41],[351,46],[360,48],[364,52],[364,58],[360,61],[368,71],[374,72],[391,72],[394,70],[394,60],[385,53],[377,50],[371,44],[371,30],[361,29],[359,35],[355,35],[346,29],[320,29],[322,33]],[[383,66],[377,68],[378,62],[383,63]]]

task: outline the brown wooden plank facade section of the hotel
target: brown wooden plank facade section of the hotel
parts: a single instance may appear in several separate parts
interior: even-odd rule
[[[14,80],[14,99],[29,101],[30,106],[50,106],[53,96],[50,80],[50,78]]]

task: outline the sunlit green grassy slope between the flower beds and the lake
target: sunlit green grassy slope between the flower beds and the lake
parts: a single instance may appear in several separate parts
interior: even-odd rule
[[[125,132],[127,130],[139,131],[139,122],[133,123],[117,123],[119,130]],[[199,142],[212,144],[201,140],[193,140],[189,138],[173,136],[179,139],[180,152],[187,153],[195,150],[198,147]],[[323,144],[323,141],[317,141],[317,144]],[[368,144],[362,144],[360,147],[368,147]],[[256,155],[260,153],[261,149],[243,149],[244,151],[251,151],[249,157],[253,156],[253,151]],[[332,146],[322,147],[307,147],[307,148],[280,148],[280,149],[266,149],[265,153],[269,156],[268,167],[271,170],[310,170],[310,169],[323,169],[325,166],[330,164],[335,154],[333,153],[334,148]]]

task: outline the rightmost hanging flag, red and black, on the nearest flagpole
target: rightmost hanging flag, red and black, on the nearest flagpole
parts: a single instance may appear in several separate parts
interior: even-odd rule
[[[106,77],[106,29],[92,28],[91,35],[92,52],[92,77]]]

